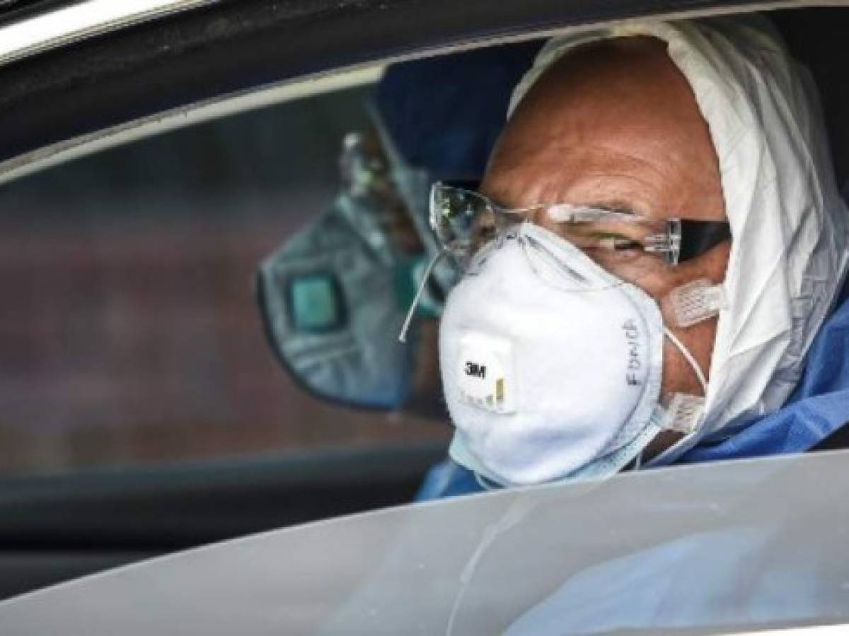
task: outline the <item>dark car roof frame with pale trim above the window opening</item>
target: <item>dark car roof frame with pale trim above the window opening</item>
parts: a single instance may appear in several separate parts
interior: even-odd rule
[[[297,98],[347,72],[373,77],[375,69],[397,61],[638,18],[811,5],[802,0],[599,0],[589,6],[580,0],[530,0],[497,8],[486,0],[459,7],[446,0],[195,4],[180,3],[180,11],[148,14],[141,22],[114,20],[82,40],[54,34],[55,47],[31,47],[6,64],[0,59],[5,141],[0,186],[118,143]],[[22,30],[42,19],[37,15],[7,28]]]

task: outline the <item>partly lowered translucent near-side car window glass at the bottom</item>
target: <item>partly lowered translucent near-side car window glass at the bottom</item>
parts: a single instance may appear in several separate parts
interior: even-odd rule
[[[0,627],[538,636],[842,623],[846,460],[684,466],[380,510],[10,600]]]

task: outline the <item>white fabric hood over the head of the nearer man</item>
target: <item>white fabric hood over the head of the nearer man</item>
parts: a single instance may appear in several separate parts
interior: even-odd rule
[[[717,150],[733,237],[706,417],[653,462],[666,463],[784,404],[846,271],[849,219],[812,82],[758,16],[638,22],[556,37],[516,86],[509,114],[564,53],[624,36],[666,41],[693,88]]]

